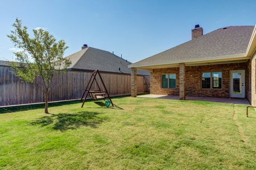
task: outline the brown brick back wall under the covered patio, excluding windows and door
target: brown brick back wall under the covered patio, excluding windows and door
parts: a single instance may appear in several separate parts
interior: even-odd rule
[[[214,98],[229,98],[230,88],[230,71],[245,70],[245,98],[248,89],[248,69],[247,62],[231,64],[215,64],[209,66],[190,66],[186,67],[186,95],[187,96],[204,96]],[[222,72],[222,89],[207,90],[201,88],[202,72],[221,71]],[[161,88],[161,75],[165,73],[175,73],[177,76],[177,88]],[[168,94],[179,95],[179,68],[153,69],[150,75],[150,93],[151,94]]]

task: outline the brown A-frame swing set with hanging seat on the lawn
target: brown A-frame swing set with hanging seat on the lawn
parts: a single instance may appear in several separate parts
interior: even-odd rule
[[[94,89],[92,90],[92,86],[94,84]],[[95,70],[92,72],[92,75],[90,77],[90,80],[85,88],[85,91],[82,95],[82,98],[81,98],[81,101],[83,100],[84,98],[84,101],[83,101],[83,104],[82,104],[82,107],[84,106],[84,103],[86,101],[86,98],[87,96],[90,96],[92,99],[103,99],[105,100],[105,105],[106,107],[108,108],[110,106],[110,103],[112,106],[114,106],[110,96],[109,96],[109,93],[107,91],[107,88],[103,82],[103,79],[100,75],[100,72],[99,70]],[[85,97],[84,97],[85,96]]]

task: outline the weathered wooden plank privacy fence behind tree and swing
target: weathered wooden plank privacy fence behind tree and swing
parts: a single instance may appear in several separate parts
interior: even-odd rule
[[[33,84],[25,83],[12,74],[11,67],[0,66],[0,106],[44,102],[44,85],[40,77]],[[50,90],[49,101],[81,98],[91,72],[66,71],[56,74]],[[131,94],[131,76],[123,74],[101,73],[110,95]],[[137,92],[147,92],[143,76],[137,76]]]

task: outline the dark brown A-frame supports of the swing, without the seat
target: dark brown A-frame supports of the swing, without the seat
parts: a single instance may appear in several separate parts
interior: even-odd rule
[[[98,74],[99,77],[100,77],[100,81],[101,81],[101,83],[102,83],[102,85],[103,85],[103,88],[104,88],[103,90],[100,89],[100,86],[99,86],[99,84],[98,84],[98,82],[97,82],[97,79],[96,79],[97,74]],[[92,84],[93,84],[94,81],[95,81],[97,87],[99,88],[99,90],[97,90],[97,91],[95,91],[95,90],[91,91],[91,87],[92,87]],[[85,91],[84,91],[84,93],[83,93],[83,95],[82,95],[82,98],[81,98],[81,101],[82,101],[83,98],[84,98],[82,107],[84,106],[85,100],[86,100],[87,96],[90,95],[90,93],[106,93],[106,94],[107,94],[107,98],[108,98],[109,101],[111,102],[111,105],[114,106],[114,104],[113,104],[113,102],[112,102],[112,100],[111,100],[111,98],[110,98],[110,96],[109,96],[108,90],[107,90],[107,88],[106,88],[106,86],[105,86],[105,84],[104,84],[104,82],[103,82],[103,79],[102,79],[102,77],[101,77],[101,75],[100,75],[100,71],[99,71],[99,70],[95,70],[95,71],[92,72],[92,75],[91,75],[91,77],[90,77],[90,80],[89,80],[89,82],[88,82],[88,84],[87,84],[87,86],[86,86],[86,88],[85,88]],[[84,97],[84,95],[85,95],[85,97]]]

